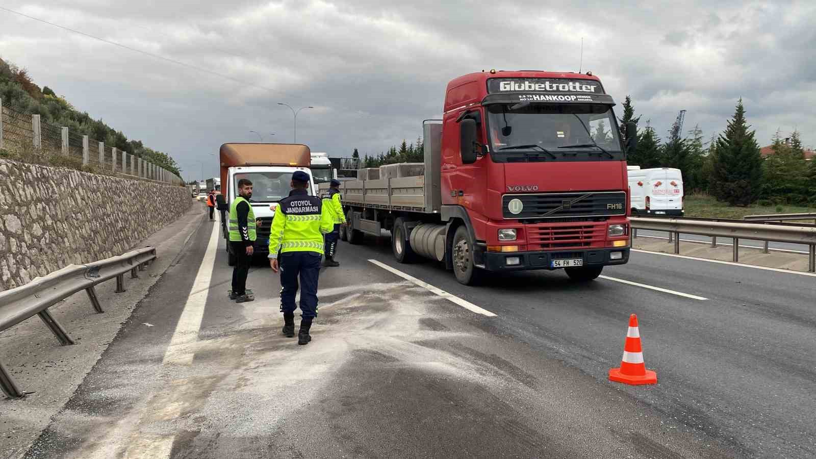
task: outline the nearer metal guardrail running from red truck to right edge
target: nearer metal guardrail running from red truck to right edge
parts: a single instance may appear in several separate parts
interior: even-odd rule
[[[739,261],[739,239],[768,242],[805,244],[809,247],[808,270],[816,272],[816,225],[770,225],[768,223],[734,223],[733,221],[706,221],[686,218],[642,218],[631,217],[632,238],[637,238],[637,230],[666,231],[674,242],[674,252],[680,253],[680,234],[710,236],[712,247],[716,238],[734,239],[732,261]]]

